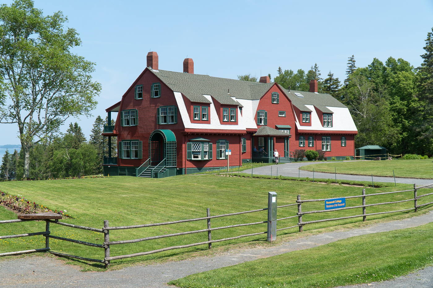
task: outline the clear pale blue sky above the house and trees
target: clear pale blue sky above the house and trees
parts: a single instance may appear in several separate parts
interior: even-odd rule
[[[344,80],[352,54],[358,67],[390,56],[418,67],[433,27],[433,1],[427,0],[36,0],[35,7],[68,16],[66,26],[83,42],[73,53],[97,64],[93,77],[102,92],[94,117],[69,118],[61,129],[78,121],[87,140],[96,116],[105,118],[105,109],[144,70],[149,50],[158,53],[162,70],[182,72],[188,57],[196,74],[273,78],[278,66],[296,71],[317,63],[322,78],[331,70]],[[0,125],[0,145],[19,144],[18,127]]]

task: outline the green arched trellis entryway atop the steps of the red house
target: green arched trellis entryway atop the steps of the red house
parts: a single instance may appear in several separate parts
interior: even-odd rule
[[[165,166],[176,167],[176,136],[171,130],[155,130],[149,136],[150,165],[155,166],[165,158]]]

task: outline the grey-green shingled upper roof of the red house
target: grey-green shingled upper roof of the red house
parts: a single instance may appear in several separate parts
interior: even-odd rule
[[[202,74],[189,74],[181,72],[173,72],[167,70],[152,70],[159,79],[175,92],[181,92],[191,102],[210,103],[210,101],[203,95],[211,95],[216,101],[226,105],[238,105],[239,102],[233,100],[247,99],[257,100],[271,88],[274,83],[258,83],[249,82],[235,79],[210,77],[209,75]],[[343,107],[346,108],[341,102],[329,94],[311,93],[306,91],[287,90],[278,85],[281,90],[289,97],[293,105],[301,111],[311,112],[305,105],[314,105],[322,112],[332,113],[331,110],[325,106],[330,107]],[[228,94],[228,92],[230,94]],[[294,93],[301,93],[304,97],[300,98]]]

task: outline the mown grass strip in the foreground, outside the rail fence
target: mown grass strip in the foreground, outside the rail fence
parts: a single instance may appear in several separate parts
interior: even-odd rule
[[[307,250],[189,275],[202,287],[335,287],[392,279],[433,264],[433,223],[339,240]]]

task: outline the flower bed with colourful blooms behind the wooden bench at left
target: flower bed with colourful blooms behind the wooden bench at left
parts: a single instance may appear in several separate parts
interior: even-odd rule
[[[30,213],[41,213],[41,212],[54,212],[63,217],[72,218],[71,215],[65,214],[66,210],[54,211],[47,208],[46,206],[36,204],[35,202],[30,202],[23,195],[11,195],[0,191],[0,204],[22,214]]]

